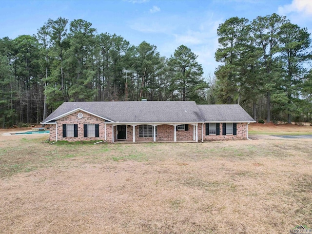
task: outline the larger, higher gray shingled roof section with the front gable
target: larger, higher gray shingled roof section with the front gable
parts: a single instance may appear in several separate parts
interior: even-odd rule
[[[115,122],[197,122],[194,101],[103,101],[64,102],[44,122],[81,108]]]

